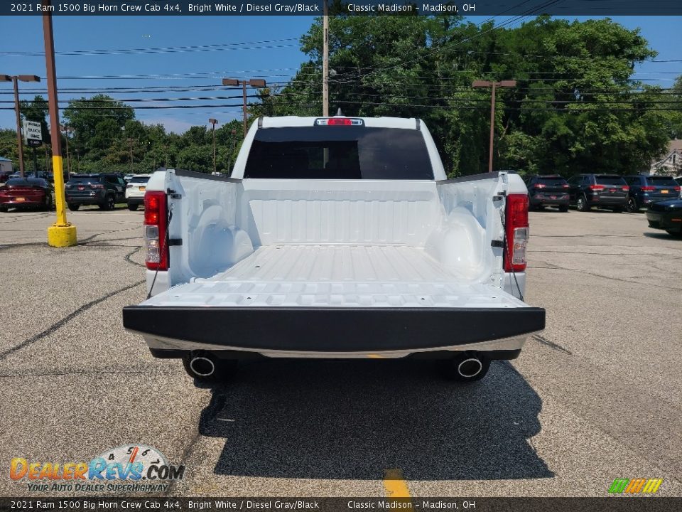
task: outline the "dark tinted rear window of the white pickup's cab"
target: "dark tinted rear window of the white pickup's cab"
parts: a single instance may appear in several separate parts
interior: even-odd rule
[[[432,180],[416,129],[266,128],[256,132],[244,178]]]

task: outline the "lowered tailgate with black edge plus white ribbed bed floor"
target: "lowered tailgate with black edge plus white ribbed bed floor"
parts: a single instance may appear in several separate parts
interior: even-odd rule
[[[396,246],[260,247],[226,272],[124,308],[126,329],[178,350],[431,351],[544,325],[544,309]]]

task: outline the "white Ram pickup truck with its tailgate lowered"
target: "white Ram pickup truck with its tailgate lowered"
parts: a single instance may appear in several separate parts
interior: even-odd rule
[[[124,326],[199,380],[254,356],[477,380],[545,326],[523,302],[523,181],[446,179],[419,119],[263,117],[231,178],[157,171],[144,206],[148,298]]]

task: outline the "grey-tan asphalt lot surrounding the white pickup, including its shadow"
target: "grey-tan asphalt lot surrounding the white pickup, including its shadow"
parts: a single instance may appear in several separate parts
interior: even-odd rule
[[[547,329],[480,383],[431,363],[254,361],[197,387],[121,327],[144,299],[143,213],[0,215],[0,495],[12,457],[88,461],[142,443],[187,466],[174,496],[682,496],[682,240],[644,214],[531,213],[526,301]],[[40,494],[40,493],[36,493]],[[75,493],[82,494],[82,493]],[[44,494],[43,494],[44,496]]]

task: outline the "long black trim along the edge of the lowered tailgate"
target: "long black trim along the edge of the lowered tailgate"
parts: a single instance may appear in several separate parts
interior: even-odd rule
[[[152,336],[254,351],[366,352],[529,334],[545,328],[545,310],[127,306],[123,325]]]

